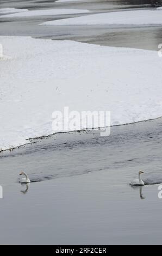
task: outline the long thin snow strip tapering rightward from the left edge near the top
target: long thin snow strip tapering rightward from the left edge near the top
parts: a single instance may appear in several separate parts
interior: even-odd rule
[[[82,14],[90,13],[89,10],[78,9],[47,9],[47,10],[33,10],[23,13],[13,13],[1,16],[2,19],[10,17],[32,17],[32,16],[47,16],[47,15],[65,15],[65,14]]]

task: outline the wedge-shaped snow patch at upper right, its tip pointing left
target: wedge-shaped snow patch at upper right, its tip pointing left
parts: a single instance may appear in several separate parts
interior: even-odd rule
[[[41,25],[161,25],[162,10],[115,11],[64,20],[43,22]]]

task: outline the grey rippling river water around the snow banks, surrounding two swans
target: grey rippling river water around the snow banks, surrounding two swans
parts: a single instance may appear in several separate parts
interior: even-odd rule
[[[1,8],[64,6],[100,12],[115,8],[151,8],[153,4],[153,1],[86,1],[84,4],[1,1]],[[75,29],[38,26],[40,21],[52,19],[33,17],[1,22],[0,34],[154,50],[162,41],[161,26],[79,26]],[[161,129],[159,118],[111,127],[108,137],[101,137],[99,131],[58,133],[1,153],[0,243],[161,243],[162,199],[158,197],[158,186],[162,182]],[[140,169],[144,170],[142,178],[148,185],[129,186]],[[22,170],[32,181],[29,185],[18,183]]]

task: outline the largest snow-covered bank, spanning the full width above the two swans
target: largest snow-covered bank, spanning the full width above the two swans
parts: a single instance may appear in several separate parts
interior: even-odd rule
[[[162,115],[157,51],[0,36],[0,149],[49,135],[53,111],[111,111],[111,125]]]

